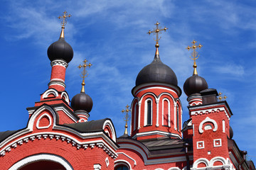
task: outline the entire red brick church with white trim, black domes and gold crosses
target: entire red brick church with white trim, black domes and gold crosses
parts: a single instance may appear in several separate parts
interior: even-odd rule
[[[65,91],[65,72],[73,59],[73,49],[65,41],[63,27],[58,41],[48,47],[52,67],[48,89],[35,106],[27,108],[26,128],[0,132],[0,169],[111,169],[111,170],[196,170],[255,169],[245,159],[246,151],[236,145],[228,103],[219,100],[216,89],[196,71],[193,41],[193,75],[183,85],[188,96],[190,118],[182,125],[181,88],[174,71],[161,62],[161,30],[156,36],[152,62],[138,74],[132,89],[130,134],[117,137],[109,118],[90,120],[92,98],[85,94],[87,61],[83,69],[82,90],[71,100]],[[192,71],[192,70],[191,70]],[[71,101],[71,102],[70,102]],[[97,108],[95,108],[97,109]],[[127,110],[129,110],[127,108]]]

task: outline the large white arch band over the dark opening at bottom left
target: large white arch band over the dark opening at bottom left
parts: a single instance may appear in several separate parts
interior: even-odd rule
[[[51,161],[51,162],[57,162],[65,167],[67,170],[73,170],[73,167],[68,163],[67,160],[65,160],[63,157],[54,155],[54,154],[36,154],[32,155],[30,157],[26,157],[24,159],[21,159],[19,162],[11,166],[9,170],[16,170],[23,166],[26,166],[27,164],[31,164],[33,162],[38,161]]]

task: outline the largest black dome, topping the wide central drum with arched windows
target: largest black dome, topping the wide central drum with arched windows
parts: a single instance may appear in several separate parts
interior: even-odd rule
[[[159,55],[156,55],[153,62],[139,72],[136,86],[153,82],[178,86],[176,74],[170,67],[161,62]]]

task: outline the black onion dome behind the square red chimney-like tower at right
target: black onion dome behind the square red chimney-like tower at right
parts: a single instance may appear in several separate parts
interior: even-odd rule
[[[186,96],[191,96],[191,94],[199,94],[200,91],[205,89],[208,89],[206,79],[203,79],[203,77],[200,77],[197,74],[188,77],[183,85],[183,91],[185,92]]]

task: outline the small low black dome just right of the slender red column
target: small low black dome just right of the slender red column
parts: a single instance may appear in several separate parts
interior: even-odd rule
[[[92,110],[92,105],[92,98],[84,92],[75,95],[71,100],[71,107],[74,111],[86,111],[89,113]]]

